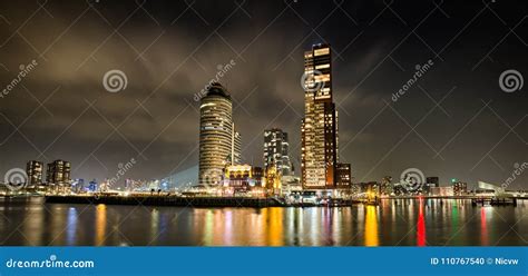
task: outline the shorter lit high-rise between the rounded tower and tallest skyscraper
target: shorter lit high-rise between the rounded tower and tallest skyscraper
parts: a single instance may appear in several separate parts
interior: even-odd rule
[[[289,150],[286,132],[278,128],[264,130],[264,168],[274,165],[282,176],[292,175],[293,166]]]

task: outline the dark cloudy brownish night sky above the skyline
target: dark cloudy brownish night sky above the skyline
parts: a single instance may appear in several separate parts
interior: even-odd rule
[[[30,159],[71,161],[102,179],[135,158],[130,178],[196,166],[195,95],[218,68],[234,98],[246,162],[262,166],[263,131],[290,135],[300,175],[303,52],[333,50],[340,159],[353,181],[408,168],[502,184],[528,161],[526,1],[2,1],[0,174]],[[471,2],[471,3],[470,3]],[[431,68],[393,101],[417,65]],[[127,76],[109,92],[109,70]],[[6,90],[4,90],[6,91]],[[509,188],[528,188],[528,171]],[[471,186],[470,186],[471,187]]]

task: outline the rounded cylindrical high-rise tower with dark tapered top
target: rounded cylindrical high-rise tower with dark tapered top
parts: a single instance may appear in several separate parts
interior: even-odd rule
[[[199,184],[219,185],[223,169],[241,164],[241,151],[231,95],[221,83],[212,83],[199,106]]]

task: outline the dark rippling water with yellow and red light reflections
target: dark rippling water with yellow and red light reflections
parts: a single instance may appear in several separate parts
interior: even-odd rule
[[[528,200],[387,199],[340,208],[182,208],[0,198],[1,245],[528,245]]]

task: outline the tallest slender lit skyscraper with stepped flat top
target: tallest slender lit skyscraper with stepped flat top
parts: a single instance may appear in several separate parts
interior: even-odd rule
[[[304,52],[303,75],[301,170],[305,189],[338,188],[336,168],[341,166],[338,165],[338,110],[332,97],[331,76],[330,46],[312,46],[312,50]],[[341,167],[341,172],[345,167]]]

